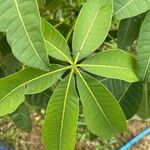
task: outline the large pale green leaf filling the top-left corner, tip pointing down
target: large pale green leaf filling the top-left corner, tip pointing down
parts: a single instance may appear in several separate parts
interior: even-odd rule
[[[13,54],[27,66],[48,70],[49,62],[36,0],[0,0],[0,31]]]

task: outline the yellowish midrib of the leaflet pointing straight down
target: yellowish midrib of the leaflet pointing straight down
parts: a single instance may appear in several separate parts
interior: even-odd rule
[[[67,97],[68,97],[68,92],[69,92],[69,87],[70,87],[70,83],[71,83],[71,79],[72,79],[72,75],[73,75],[73,71],[74,69],[71,70],[70,76],[69,76],[69,80],[67,83],[67,88],[66,88],[66,92],[65,92],[65,97],[64,97],[64,103],[63,103],[63,113],[62,113],[62,118],[61,118],[61,129],[60,129],[60,136],[59,136],[59,150],[61,150],[61,146],[62,146],[62,134],[63,134],[63,127],[64,127],[64,118],[65,118],[65,111],[66,111],[66,103],[67,103]]]

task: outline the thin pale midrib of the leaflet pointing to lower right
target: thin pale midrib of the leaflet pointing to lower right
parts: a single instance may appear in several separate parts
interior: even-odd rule
[[[100,112],[103,114],[104,118],[106,119],[106,121],[108,122],[108,124],[110,125],[110,127],[111,127],[114,131],[117,131],[117,130],[115,129],[115,127],[113,127],[113,125],[111,124],[111,122],[109,121],[109,119],[107,118],[107,116],[105,115],[105,113],[104,113],[102,107],[101,107],[100,104],[98,103],[96,97],[94,96],[93,92],[91,91],[90,87],[88,86],[88,84],[86,83],[84,77],[81,75],[81,73],[78,71],[78,69],[77,69],[77,72],[78,72],[80,78],[82,79],[83,83],[84,83],[85,86],[87,87],[88,91],[90,92],[91,96],[92,96],[93,99],[95,100],[95,102],[96,102],[98,108],[100,109]]]

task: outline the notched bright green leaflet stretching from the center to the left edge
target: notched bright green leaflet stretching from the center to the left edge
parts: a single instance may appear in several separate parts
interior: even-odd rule
[[[52,71],[49,72],[26,68],[16,74],[0,79],[0,117],[14,112],[24,101],[28,84],[39,82],[41,85],[36,85],[36,89],[43,91],[47,86],[51,86],[61,78],[62,74],[67,70],[67,67],[62,68],[59,65],[56,70],[56,66],[54,66],[50,67]],[[53,70],[53,68],[55,69]]]

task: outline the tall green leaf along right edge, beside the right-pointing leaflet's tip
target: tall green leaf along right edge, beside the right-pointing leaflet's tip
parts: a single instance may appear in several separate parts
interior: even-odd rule
[[[138,72],[142,81],[150,81],[150,12],[146,15],[141,27],[137,55],[138,55]]]

